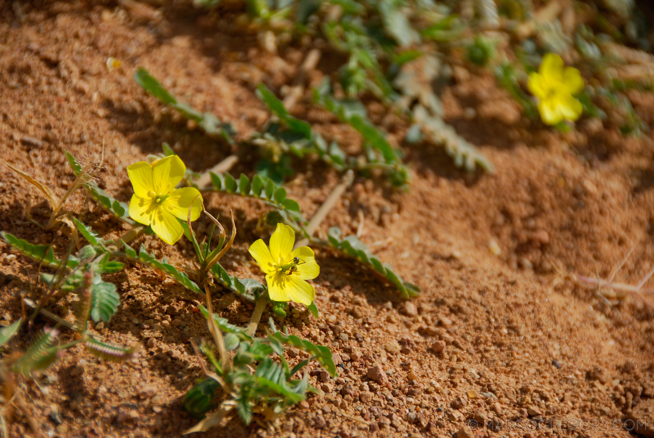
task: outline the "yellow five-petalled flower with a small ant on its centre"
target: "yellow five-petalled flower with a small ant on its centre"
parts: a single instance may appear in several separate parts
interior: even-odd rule
[[[309,305],[316,296],[312,280],[320,274],[313,249],[301,246],[293,250],[295,232],[282,223],[270,237],[270,249],[262,239],[250,246],[250,254],[266,273],[268,296],[273,301],[295,301]]]

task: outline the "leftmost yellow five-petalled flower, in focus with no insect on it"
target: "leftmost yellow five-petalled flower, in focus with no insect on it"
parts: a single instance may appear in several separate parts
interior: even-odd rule
[[[191,203],[192,221],[198,219],[202,212],[198,189],[175,189],[185,171],[186,166],[177,155],[167,156],[152,164],[139,161],[127,168],[129,180],[134,187],[129,202],[129,215],[138,223],[150,225],[152,231],[170,245],[177,242],[183,232],[175,218],[186,221]]]

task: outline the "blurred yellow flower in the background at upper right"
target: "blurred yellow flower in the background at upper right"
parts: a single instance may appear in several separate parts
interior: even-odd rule
[[[583,91],[583,79],[579,70],[565,67],[557,54],[548,53],[538,68],[529,75],[527,88],[538,98],[540,118],[549,125],[563,120],[579,119],[583,107],[573,95]]]

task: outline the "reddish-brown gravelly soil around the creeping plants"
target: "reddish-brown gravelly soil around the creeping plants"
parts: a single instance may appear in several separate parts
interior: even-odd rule
[[[281,95],[311,48],[291,43],[271,54],[229,16],[216,21],[176,3],[163,13],[131,1],[0,5],[1,158],[57,196],[74,179],[64,150],[80,160],[103,159],[94,177],[123,202],[132,194],[127,166],[161,153],[164,141],[196,172],[234,154],[239,162],[232,175],[252,177],[260,158],[255,145],[207,136],[146,94],[133,73],[145,67],[179,100],[231,122],[237,141],[246,141],[269,118],[256,85],[265,82]],[[356,131],[311,101],[311,87],[337,75],[340,56],[322,54],[291,112],[356,155],[362,150]],[[109,57],[120,66],[108,69]],[[447,61],[454,76],[441,93],[445,120],[496,172],[468,174],[438,145],[403,143],[408,122],[371,100],[370,119],[405,153],[409,191],[394,191],[381,175],[357,176],[319,231],[359,231],[421,295],[405,301],[365,266],[317,247],[321,272],[312,283],[320,317],[291,304],[282,319],[269,308],[259,330],[265,333],[272,317],[278,329],[330,347],[339,377],[311,365],[309,381],[324,394],[293,407],[274,432],[262,427],[271,426],[263,416],[245,426],[234,414],[200,435],[628,437],[636,433],[625,429],[634,419],[647,422],[649,429],[639,433],[652,436],[651,295],[574,281],[577,275],[610,278],[632,249],[614,282],[638,285],[652,268],[651,133],[623,136],[618,126],[582,119],[561,134],[527,119],[487,71],[455,57]],[[634,108],[651,124],[652,95],[631,93]],[[292,166],[288,197],[310,218],[341,175],[316,157],[294,158]],[[235,216],[235,244],[222,265],[263,282],[247,249],[269,238],[273,228],[260,221],[269,208],[233,194],[204,198],[228,230],[230,210]],[[63,210],[105,238],[128,229],[83,190]],[[0,165],[0,230],[52,243],[61,256],[71,232],[63,223],[42,227],[51,211],[41,192]],[[211,221],[203,217],[194,229],[207,236]],[[193,247],[184,238],[169,246],[142,235],[131,244],[193,269]],[[38,301],[46,293],[38,272],[38,263],[0,244],[3,325],[29,318],[22,298]],[[2,411],[11,437],[177,437],[198,421],[181,404],[203,377],[190,344],[211,338],[198,308],[203,297],[142,266],[126,264],[105,280],[116,284],[121,304],[93,331],[118,344],[140,343],[139,356],[111,363],[78,346],[32,379],[18,378],[26,406],[5,400]],[[646,289],[654,289],[654,279]],[[247,324],[252,302],[220,287],[213,299],[221,316]],[[51,310],[72,321],[74,308],[71,297]],[[24,351],[46,326],[52,322],[42,318],[26,325],[5,357]],[[72,337],[61,329],[61,342]],[[291,366],[308,358],[293,349],[286,354]],[[545,428],[528,429],[529,419],[545,420]],[[460,431],[470,420],[486,427]],[[581,426],[570,426],[571,420]]]

